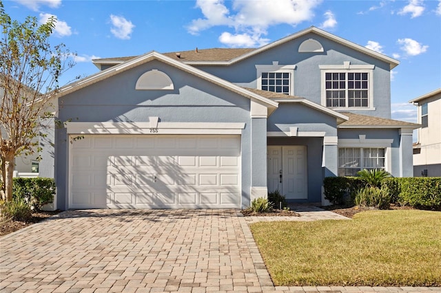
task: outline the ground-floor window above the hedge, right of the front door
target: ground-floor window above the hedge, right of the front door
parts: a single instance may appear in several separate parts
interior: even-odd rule
[[[354,176],[362,169],[382,169],[386,149],[343,147],[338,149],[338,176]]]

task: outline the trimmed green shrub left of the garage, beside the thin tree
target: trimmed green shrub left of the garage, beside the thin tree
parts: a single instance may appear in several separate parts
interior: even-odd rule
[[[54,201],[55,182],[52,178],[14,178],[12,197],[23,199],[31,208],[39,210]]]

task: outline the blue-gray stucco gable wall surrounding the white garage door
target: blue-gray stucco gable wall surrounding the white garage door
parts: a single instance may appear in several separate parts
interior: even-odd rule
[[[174,90],[135,90],[143,73],[158,69],[173,80]],[[59,119],[72,122],[245,122],[242,133],[242,195],[249,206],[252,166],[250,100],[175,67],[152,61],[62,97]],[[68,138],[57,130],[58,208],[67,207]],[[266,169],[265,169],[266,171]],[[266,178],[266,174],[265,174]],[[247,202],[248,200],[248,202]]]

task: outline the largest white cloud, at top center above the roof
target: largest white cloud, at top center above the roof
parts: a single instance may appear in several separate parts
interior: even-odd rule
[[[234,28],[234,34],[223,32],[219,41],[229,46],[243,47],[267,43],[263,38],[271,25],[297,25],[314,17],[314,8],[322,0],[233,0],[231,10],[224,0],[197,0],[203,18],[194,19],[187,27],[190,34],[198,34],[214,26]]]

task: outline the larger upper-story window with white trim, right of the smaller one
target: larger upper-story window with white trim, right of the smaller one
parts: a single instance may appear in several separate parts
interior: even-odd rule
[[[322,105],[339,109],[373,108],[373,65],[320,65]]]

